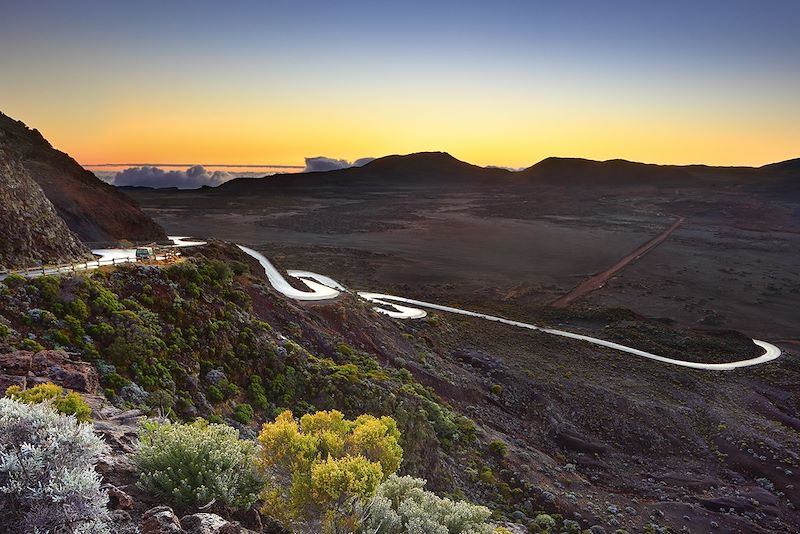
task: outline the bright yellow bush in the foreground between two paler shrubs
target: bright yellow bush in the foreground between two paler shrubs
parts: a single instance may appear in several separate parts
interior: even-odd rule
[[[287,410],[264,424],[258,439],[260,465],[271,479],[264,508],[284,521],[370,497],[403,458],[391,417],[361,415],[352,421],[332,410],[298,421]],[[291,481],[288,487],[285,480]]]

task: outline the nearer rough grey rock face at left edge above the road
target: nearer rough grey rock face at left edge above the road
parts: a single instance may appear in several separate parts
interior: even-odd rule
[[[7,143],[0,129],[0,268],[90,256]]]

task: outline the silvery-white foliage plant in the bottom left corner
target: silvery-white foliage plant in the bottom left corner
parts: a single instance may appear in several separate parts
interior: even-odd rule
[[[110,532],[108,496],[94,469],[107,452],[92,425],[74,416],[46,403],[0,399],[0,525],[40,534]]]

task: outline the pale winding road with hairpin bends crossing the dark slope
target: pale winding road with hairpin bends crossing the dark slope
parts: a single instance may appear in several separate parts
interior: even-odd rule
[[[193,241],[185,236],[170,236],[170,239],[174,243],[175,247],[191,247],[191,246],[200,246],[206,244],[205,241]],[[576,339],[586,343],[591,343],[592,345],[606,347],[618,350],[620,352],[633,354],[635,356],[648,358],[650,360],[677,365],[680,367],[688,367],[691,369],[703,369],[709,371],[729,371],[731,369],[739,369],[742,367],[760,365],[762,363],[772,361],[781,355],[781,350],[772,343],[767,343],[766,341],[760,341],[758,339],[754,339],[753,343],[759,346],[764,351],[763,354],[761,354],[758,357],[746,360],[739,360],[735,362],[724,362],[724,363],[689,362],[684,360],[678,360],[675,358],[667,358],[666,356],[659,356],[658,354],[653,354],[652,352],[639,350],[633,347],[628,347],[625,345],[621,345],[619,343],[606,341],[604,339],[599,339],[596,337],[585,336],[583,334],[576,334],[574,332],[568,332],[566,330],[544,328],[530,323],[524,323],[521,321],[512,321],[510,319],[505,319],[503,317],[487,315],[485,313],[478,313],[474,311],[463,310],[461,308],[454,308],[451,306],[435,304],[432,302],[425,302],[422,300],[398,297],[395,295],[370,293],[366,291],[354,292],[348,290],[347,288],[339,284],[336,280],[328,276],[312,273],[309,271],[289,270],[286,273],[288,276],[295,278],[308,288],[307,290],[297,289],[294,286],[292,286],[286,280],[286,278],[284,278],[281,272],[278,271],[278,269],[276,269],[275,266],[272,265],[272,263],[263,254],[251,248],[245,247],[243,245],[237,245],[237,246],[242,252],[244,252],[245,254],[251,256],[252,258],[258,261],[258,263],[264,269],[264,272],[267,275],[267,279],[269,280],[270,284],[276,291],[278,291],[279,293],[288,298],[295,300],[324,301],[324,300],[334,299],[342,293],[350,293],[358,296],[361,299],[371,302],[372,304],[375,304],[374,307],[375,311],[383,313],[395,319],[421,319],[427,315],[427,312],[423,309],[425,308],[429,310],[465,315],[468,317],[477,317],[479,319],[485,319],[487,321],[502,323],[517,328],[524,328],[527,330],[542,332],[544,334]],[[97,256],[99,256],[99,258],[96,261],[74,264],[71,266],[70,269],[67,270],[64,270],[64,268],[53,268],[53,269],[44,269],[42,271],[30,271],[24,274],[26,276],[40,276],[42,274],[59,274],[65,272],[72,272],[76,270],[97,269],[101,265],[110,265],[110,264],[136,261],[135,260],[136,249],[97,249],[93,250],[92,252]],[[0,276],[0,279],[2,278],[4,278],[4,276]]]

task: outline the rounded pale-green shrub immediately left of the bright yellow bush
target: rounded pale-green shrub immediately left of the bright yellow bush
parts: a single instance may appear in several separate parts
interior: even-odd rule
[[[146,423],[135,462],[145,490],[181,511],[211,501],[248,508],[261,483],[254,468],[255,446],[230,426],[199,419],[191,424]]]

